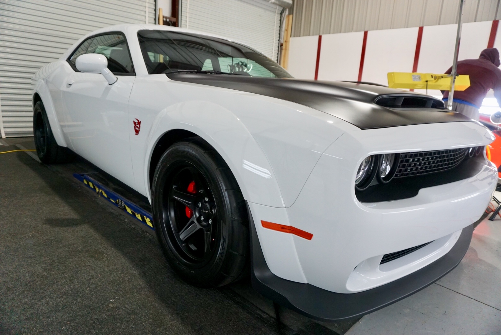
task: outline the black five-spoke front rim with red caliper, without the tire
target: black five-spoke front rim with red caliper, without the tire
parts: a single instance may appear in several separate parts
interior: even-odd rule
[[[207,180],[188,162],[170,176],[162,197],[167,238],[184,261],[208,261],[217,243],[217,210]]]

